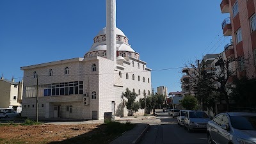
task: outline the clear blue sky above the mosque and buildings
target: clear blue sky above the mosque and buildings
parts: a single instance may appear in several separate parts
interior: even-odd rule
[[[152,87],[180,91],[181,67],[230,42],[221,0],[116,0],[116,27],[152,69]],[[20,67],[83,58],[106,26],[106,0],[0,1],[0,74],[19,81]],[[168,69],[168,70],[164,70]]]

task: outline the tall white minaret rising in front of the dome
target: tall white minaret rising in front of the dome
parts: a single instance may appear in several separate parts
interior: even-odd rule
[[[107,58],[116,69],[116,0],[106,0]]]

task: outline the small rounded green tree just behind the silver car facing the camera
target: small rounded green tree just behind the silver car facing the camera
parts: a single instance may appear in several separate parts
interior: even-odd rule
[[[180,104],[185,109],[191,109],[194,110],[197,107],[197,99],[194,96],[186,95],[181,101]]]

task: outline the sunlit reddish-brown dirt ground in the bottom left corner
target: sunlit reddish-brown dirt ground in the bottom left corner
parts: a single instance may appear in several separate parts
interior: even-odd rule
[[[100,124],[80,125],[0,125],[0,143],[51,143],[77,137],[90,138],[104,131]]]

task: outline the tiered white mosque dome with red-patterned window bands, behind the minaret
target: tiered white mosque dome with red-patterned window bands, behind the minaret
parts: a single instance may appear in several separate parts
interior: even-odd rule
[[[90,58],[92,56],[106,57],[107,51],[107,34],[106,27],[99,31],[99,33],[93,38],[93,45],[90,51],[84,54],[84,58]],[[123,31],[116,28],[116,56],[132,57],[139,59],[140,54],[135,52],[131,45],[128,43],[128,38],[124,35]]]

